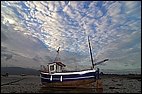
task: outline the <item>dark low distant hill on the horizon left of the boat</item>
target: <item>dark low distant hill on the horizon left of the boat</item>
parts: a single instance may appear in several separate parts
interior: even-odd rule
[[[21,68],[21,67],[1,67],[1,74],[9,73],[9,75],[39,75],[39,71],[30,68]]]

